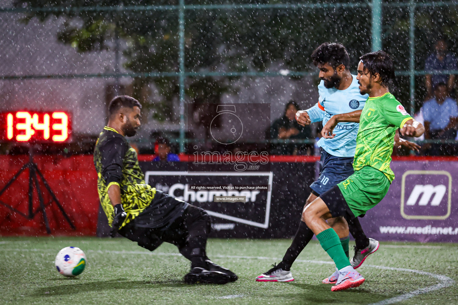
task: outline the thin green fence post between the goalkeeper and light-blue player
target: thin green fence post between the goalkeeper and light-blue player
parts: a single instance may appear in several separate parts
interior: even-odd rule
[[[180,60],[180,153],[185,152],[185,0],[179,3]]]

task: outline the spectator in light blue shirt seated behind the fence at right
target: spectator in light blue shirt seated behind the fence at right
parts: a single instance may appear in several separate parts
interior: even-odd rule
[[[434,98],[423,104],[425,139],[455,139],[458,123],[458,107],[455,100],[447,96],[447,85],[438,83]],[[447,144],[425,144],[428,155],[451,155],[453,146]]]

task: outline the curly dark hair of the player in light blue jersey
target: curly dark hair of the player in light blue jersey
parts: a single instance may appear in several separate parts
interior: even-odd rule
[[[328,63],[333,69],[336,69],[343,64],[347,70],[350,66],[347,49],[340,43],[322,43],[313,51],[311,59],[316,66]]]

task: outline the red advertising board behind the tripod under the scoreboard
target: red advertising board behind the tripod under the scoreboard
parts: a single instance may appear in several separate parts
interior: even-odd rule
[[[27,155],[0,155],[0,189],[28,161]],[[49,227],[53,235],[95,235],[98,217],[97,174],[93,167],[92,155],[35,156],[34,161],[43,173],[56,198],[62,204],[66,214],[75,224],[72,230],[65,221],[57,205],[40,181],[44,196]],[[0,235],[46,235],[43,214],[39,211],[38,194],[33,193],[33,212],[38,211],[33,219],[27,219],[15,213],[6,205],[23,214],[28,211],[28,170],[0,196]],[[6,205],[5,205],[6,204]]]

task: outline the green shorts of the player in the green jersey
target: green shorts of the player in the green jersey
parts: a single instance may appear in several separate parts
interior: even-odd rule
[[[358,217],[385,197],[390,181],[382,171],[365,166],[337,186],[354,216]]]

